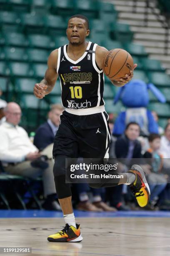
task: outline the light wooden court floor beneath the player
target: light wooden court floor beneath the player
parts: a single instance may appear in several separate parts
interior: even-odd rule
[[[46,238],[61,230],[62,218],[2,218],[0,247],[32,247],[32,254],[15,254],[31,256],[170,255],[170,218],[76,220],[81,224],[81,243],[50,243]]]

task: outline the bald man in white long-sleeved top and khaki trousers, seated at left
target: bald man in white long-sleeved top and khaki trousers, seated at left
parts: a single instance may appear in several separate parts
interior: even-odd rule
[[[20,106],[10,102],[4,112],[6,121],[0,125],[0,161],[5,171],[30,178],[42,175],[46,209],[57,210],[53,200],[53,195],[56,194],[52,173],[53,161],[42,161],[42,156],[31,143],[27,132],[18,126],[21,118]]]

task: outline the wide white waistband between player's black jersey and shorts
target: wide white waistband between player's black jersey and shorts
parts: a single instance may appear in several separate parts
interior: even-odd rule
[[[85,109],[65,108],[65,111],[70,113],[70,114],[73,114],[73,115],[92,115],[92,114],[105,112],[105,106],[102,105],[102,106],[99,106],[99,107],[85,108]]]

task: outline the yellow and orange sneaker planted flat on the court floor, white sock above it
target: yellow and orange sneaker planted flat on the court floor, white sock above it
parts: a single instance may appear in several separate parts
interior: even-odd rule
[[[48,236],[47,240],[49,242],[81,242],[80,225],[76,224],[75,228],[72,225],[66,224],[60,232]]]

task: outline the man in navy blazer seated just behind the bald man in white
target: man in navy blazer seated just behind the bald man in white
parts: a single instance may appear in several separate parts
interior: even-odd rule
[[[34,145],[39,150],[43,150],[54,143],[55,134],[60,124],[60,115],[63,110],[64,108],[60,104],[52,105],[50,112],[48,113],[47,122],[40,125],[37,129],[34,137]]]

